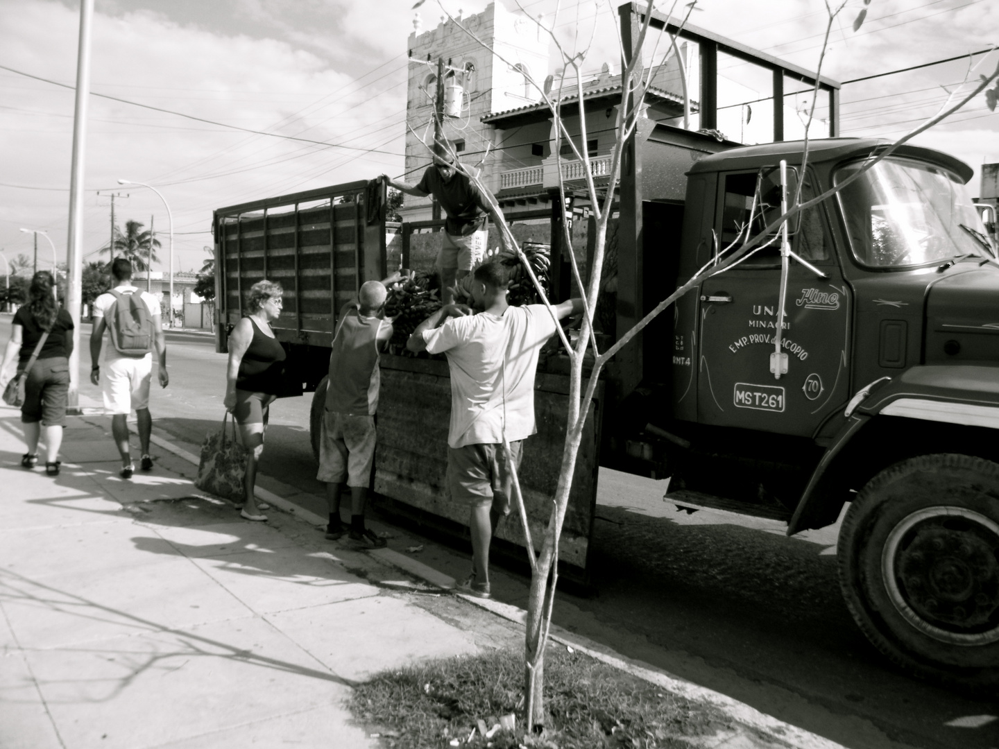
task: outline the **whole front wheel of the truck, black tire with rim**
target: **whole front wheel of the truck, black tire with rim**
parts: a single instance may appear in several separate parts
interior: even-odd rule
[[[962,688],[999,687],[999,464],[912,457],[857,495],[839,583],[867,638],[898,665]]]

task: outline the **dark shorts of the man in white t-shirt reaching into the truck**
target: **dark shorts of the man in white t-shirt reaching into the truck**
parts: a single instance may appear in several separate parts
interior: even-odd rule
[[[519,468],[522,439],[509,443],[513,464]],[[448,486],[451,496],[474,506],[487,505],[508,515],[513,499],[513,476],[501,444],[448,447]]]

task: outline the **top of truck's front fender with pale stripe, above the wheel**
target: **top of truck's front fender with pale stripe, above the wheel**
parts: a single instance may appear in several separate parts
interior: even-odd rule
[[[880,387],[857,412],[999,429],[999,367],[913,367]]]

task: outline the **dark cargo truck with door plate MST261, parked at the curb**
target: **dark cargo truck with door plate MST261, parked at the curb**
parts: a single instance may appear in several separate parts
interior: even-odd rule
[[[781,162],[808,200],[887,145],[814,140],[802,171],[802,142],[736,147],[655,125],[621,177],[604,338],[762,231]],[[764,243],[622,349],[588,413],[562,562],[584,576],[600,465],[668,477],[677,507],[768,517],[789,535],[841,519],[840,586],[869,640],[916,674],[999,684],[999,263],[971,176],[901,146],[790,222],[783,319],[779,243]],[[314,392],[314,431],[339,310],[360,283],[410,265],[414,229],[387,222],[385,205],[381,183],[359,182],[215,212],[217,349],[253,282],[284,284],[274,328],[293,389]],[[557,282],[570,250],[551,237]],[[555,302],[570,294],[553,286]],[[772,366],[778,326],[786,370]],[[521,469],[534,538],[557,476],[566,368],[557,351],[538,365]],[[386,355],[382,388],[375,491],[461,529],[467,508],[444,480],[447,363]],[[515,524],[500,535],[524,543]]]

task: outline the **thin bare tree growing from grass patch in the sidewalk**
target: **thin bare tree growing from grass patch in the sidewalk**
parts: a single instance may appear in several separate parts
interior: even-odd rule
[[[414,7],[419,7],[422,5],[424,0],[418,2]],[[853,29],[856,31],[860,28],[861,24],[864,22],[867,13],[867,7],[870,0],[843,0],[839,4],[830,4],[828,0],[824,0],[825,9],[827,14],[827,23],[825,27],[825,34],[823,38],[822,50],[819,55],[818,70],[815,75],[815,89],[813,90],[812,101],[809,107],[808,116],[805,122],[805,141],[801,154],[800,164],[795,164],[795,167],[801,170],[801,174],[804,174],[804,169],[807,165],[808,159],[808,130],[812,122],[815,112],[815,102],[817,100],[818,94],[818,80],[821,74],[822,64],[825,59],[825,52],[828,45],[828,39],[830,32],[833,28],[836,18],[843,13],[844,10],[853,2],[856,4],[861,4],[862,7],[859,10],[858,15],[853,23]],[[672,8],[670,9],[669,15],[676,10],[679,0],[674,0]],[[696,5],[696,0],[694,2],[689,2],[683,7],[686,9],[683,17],[683,23],[689,17],[690,12]],[[561,66],[561,76],[560,83],[556,92],[551,95],[546,91],[545,85],[538,83],[537,81],[529,78],[528,81],[531,85],[536,88],[540,95],[540,99],[544,102],[550,109],[553,115],[554,133],[555,140],[552,147],[552,153],[556,155],[556,158],[561,159],[561,144],[569,146],[572,156],[582,162],[585,166],[583,171],[583,176],[586,184],[586,192],[588,194],[590,204],[592,206],[593,218],[596,225],[595,232],[595,244],[592,256],[592,265],[589,269],[589,279],[588,283],[583,283],[579,275],[579,270],[577,268],[574,255],[569,252],[568,257],[571,264],[571,270],[573,279],[580,290],[583,290],[583,301],[584,301],[584,314],[581,324],[580,335],[574,345],[570,346],[569,341],[566,338],[564,332],[557,325],[556,320],[556,330],[561,338],[562,345],[568,355],[570,362],[570,374],[569,374],[569,392],[568,392],[568,407],[567,407],[567,418],[566,418],[566,437],[562,450],[561,462],[559,466],[558,480],[555,488],[554,496],[551,499],[551,509],[548,518],[547,525],[544,529],[543,537],[539,540],[539,543],[531,538],[530,528],[527,522],[526,509],[523,503],[523,498],[520,494],[518,479],[514,471],[514,499],[516,500],[518,515],[520,517],[522,530],[526,540],[527,558],[531,569],[531,582],[530,582],[530,592],[528,597],[527,605],[527,618],[526,618],[526,631],[525,631],[525,647],[524,647],[524,662],[525,662],[525,674],[524,674],[524,692],[526,695],[526,709],[525,716],[527,722],[528,731],[537,731],[543,727],[545,723],[545,711],[544,711],[544,700],[543,700],[543,668],[544,668],[544,648],[547,643],[548,631],[551,623],[551,611],[554,601],[554,591],[557,584],[558,572],[557,572],[557,560],[558,560],[558,540],[561,535],[562,523],[565,518],[565,512],[568,506],[569,493],[572,483],[572,475],[575,469],[576,456],[578,453],[579,446],[582,441],[583,427],[585,425],[586,414],[588,413],[589,405],[592,401],[593,394],[596,390],[597,380],[601,370],[604,365],[609,362],[617,352],[619,352],[624,346],[626,346],[638,333],[642,331],[652,320],[654,320],[661,312],[663,312],[670,305],[675,303],[681,297],[683,297],[687,292],[695,287],[699,286],[705,279],[715,276],[717,274],[723,273],[732,266],[737,265],[746,257],[748,257],[753,252],[756,252],[763,247],[773,244],[777,241],[781,243],[781,258],[782,258],[782,273],[781,273],[781,287],[780,287],[780,306],[783,308],[784,295],[786,288],[787,279],[787,267],[789,257],[792,255],[790,253],[786,232],[783,236],[778,234],[782,227],[786,227],[787,222],[793,219],[795,216],[800,214],[802,211],[818,205],[822,201],[831,197],[838,191],[842,190],[855,180],[859,179],[867,170],[873,167],[875,164],[891,155],[894,151],[898,149],[899,146],[908,142],[913,137],[925,130],[938,124],[946,117],[950,116],[954,112],[958,111],[961,107],[971,101],[973,98],[978,96],[983,91],[986,92],[986,100],[990,109],[995,108],[997,97],[999,97],[999,85],[995,89],[989,89],[989,86],[999,78],[999,66],[991,75],[981,75],[977,81],[974,81],[974,85],[971,90],[968,91],[968,84],[970,76],[966,77],[965,83],[953,90],[947,92],[948,96],[946,101],[940,107],[940,110],[936,115],[931,117],[926,122],[920,124],[905,136],[897,140],[896,142],[885,145],[884,147],[879,147],[874,150],[865,160],[862,167],[854,171],[849,177],[841,180],[833,189],[830,189],[820,195],[817,195],[805,202],[801,201],[801,190],[804,180],[797,181],[797,187],[795,193],[792,196],[786,196],[786,182],[785,196],[786,202],[781,205],[781,210],[779,215],[770,220],[770,214],[765,216],[762,214],[762,208],[760,206],[759,200],[759,186],[757,184],[756,196],[753,200],[752,208],[750,209],[750,217],[747,223],[741,227],[736,239],[725,248],[719,248],[718,252],[713,254],[712,260],[702,269],[700,269],[693,277],[688,279],[685,283],[677,288],[677,290],[662,300],[648,315],[646,315],[641,321],[639,321],[631,330],[621,336],[613,346],[607,349],[603,353],[599,353],[596,349],[595,336],[593,334],[593,311],[596,307],[597,298],[600,292],[600,282],[601,273],[603,268],[603,259],[606,250],[606,239],[607,239],[607,227],[609,225],[612,208],[613,208],[613,195],[614,188],[617,185],[620,178],[620,168],[621,160],[624,152],[625,145],[629,138],[636,132],[636,129],[643,124],[640,122],[643,113],[644,98],[651,82],[654,80],[656,72],[662,69],[665,64],[670,60],[671,56],[675,53],[677,49],[676,39],[682,30],[682,23],[679,29],[674,34],[667,33],[664,29],[655,35],[654,32],[650,34],[650,22],[653,13],[653,1],[648,0],[645,3],[644,12],[641,14],[641,23],[638,28],[638,34],[631,44],[631,49],[625,49],[621,45],[621,59],[622,59],[622,69],[621,69],[621,106],[617,108],[616,116],[616,133],[617,137],[613,144],[610,157],[610,170],[609,170],[609,180],[605,190],[600,193],[597,190],[593,178],[592,171],[590,167],[590,154],[586,148],[586,130],[585,130],[585,117],[583,116],[582,102],[583,102],[583,81],[582,81],[582,65],[587,59],[589,52],[589,45],[592,39],[586,43],[586,46],[581,51],[569,51],[559,42],[556,38],[553,30],[556,27],[558,20],[559,9],[556,7],[553,16],[550,19],[545,19],[549,25],[542,25],[539,18],[531,16],[523,7],[518,7],[521,12],[524,13],[528,18],[530,18],[534,23],[538,25],[545,33],[547,33],[556,47],[560,55],[560,66]],[[447,13],[447,11],[445,11]],[[461,21],[451,17],[449,18],[453,23],[462,25]],[[481,39],[479,39],[476,34],[469,28],[463,27],[469,36],[476,39],[482,46],[489,50],[491,54],[495,54],[500,62],[506,65],[512,66],[513,61],[505,60],[503,57],[497,53],[493,48],[487,46]],[[618,34],[618,41],[622,39],[621,30],[616,29]],[[651,61],[648,67],[643,67],[642,65],[642,52],[645,46],[648,44],[650,38],[654,36],[654,46],[652,47],[649,60]],[[660,45],[663,43],[665,52],[663,53],[661,60],[658,64],[655,64],[655,58]],[[681,68],[682,72],[682,68]],[[969,74],[970,74],[969,70]],[[562,91],[564,82],[567,78],[571,78],[574,81],[575,95],[579,103],[579,145],[573,141],[566,123],[561,116],[560,105],[562,100]],[[684,81],[684,93],[686,90],[686,85]],[[684,111],[687,111],[688,103],[685,102]],[[411,132],[414,131],[411,128]],[[419,137],[419,134],[417,134]],[[451,156],[455,158],[455,164],[458,169],[465,174],[469,179],[476,184],[484,195],[492,196],[492,193],[485,190],[485,186],[482,184],[478,170],[463,168],[458,161],[458,154],[451,149],[451,145],[447,142],[438,144],[438,147],[443,147],[451,150]],[[429,147],[430,148],[430,147]],[[562,170],[560,163],[558,164],[558,169],[556,170],[558,174],[558,189],[561,197],[560,206],[562,210],[562,222],[561,225],[565,231],[565,245],[566,247],[571,247],[571,238],[568,235],[568,221],[567,216],[565,216],[565,186],[562,179]],[[494,202],[493,208],[496,209],[497,215],[502,217],[502,212],[499,206]],[[760,231],[755,236],[750,236],[750,230],[753,226],[754,214],[757,210],[759,213],[759,219],[763,222],[763,219],[768,220],[765,228]],[[530,266],[526,263],[523,253],[520,251],[516,240],[513,238],[512,233],[509,230],[508,225],[502,222],[500,225],[500,232],[505,235],[506,242],[510,248],[512,248],[517,256],[520,258],[521,263],[527,269],[527,275],[530,277],[531,282],[534,284],[537,294],[545,307],[554,317],[554,312],[545,298],[543,290],[538,283],[537,279],[532,273],[530,273]],[[794,256],[796,258],[796,256]],[[801,260],[796,258],[797,260]],[[807,266],[807,264],[805,264]],[[818,271],[816,271],[818,273]],[[778,320],[781,318],[779,317]],[[776,353],[780,354],[780,326],[778,325],[777,336],[777,348]],[[591,370],[587,380],[583,381],[583,364],[584,355],[587,349],[592,347],[593,358],[589,362],[591,363]],[[588,363],[587,363],[588,364]],[[508,443],[504,443],[504,447],[508,450]],[[510,465],[513,464],[512,459],[509,460]]]

